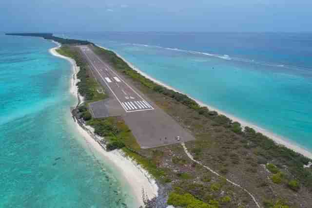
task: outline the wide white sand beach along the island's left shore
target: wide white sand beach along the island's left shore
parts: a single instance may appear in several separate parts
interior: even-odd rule
[[[76,65],[76,61],[74,59],[60,55],[56,51],[56,49],[60,48],[61,44],[55,41],[53,42],[56,43],[58,46],[51,48],[49,50],[50,53],[53,56],[68,60],[72,65],[73,78],[71,79],[70,93],[78,97],[77,104],[78,106],[84,101],[84,97],[79,95],[78,87],[76,86],[76,83],[79,81],[79,79],[77,78],[79,67]],[[103,156],[103,158],[107,159],[112,165],[115,166],[115,168],[120,170],[121,175],[124,177],[124,179],[128,182],[131,189],[134,191],[133,195],[139,206],[144,206],[142,189],[144,189],[144,195],[147,195],[148,199],[153,199],[158,196],[159,188],[156,184],[156,181],[152,178],[151,175],[149,175],[149,173],[146,170],[140,167],[132,159],[126,157],[121,150],[105,151],[102,148],[102,146],[100,146],[99,143],[96,141],[96,139],[93,138],[93,136],[89,133],[91,128],[88,128],[82,124],[84,128],[89,130],[86,131],[82,126],[80,126],[78,121],[76,121],[75,119],[74,121],[77,127],[77,131],[84,137],[86,142],[91,144],[91,146],[95,151],[97,151],[101,156]]]

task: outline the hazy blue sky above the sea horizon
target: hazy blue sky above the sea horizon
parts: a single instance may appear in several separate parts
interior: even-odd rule
[[[3,32],[312,32],[312,0],[1,0]]]

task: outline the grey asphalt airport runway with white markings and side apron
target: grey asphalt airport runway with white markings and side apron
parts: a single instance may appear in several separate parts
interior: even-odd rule
[[[109,93],[105,101],[92,103],[94,117],[120,115],[131,129],[141,148],[152,148],[194,140],[171,116],[159,109],[135,87],[126,83],[113,68],[88,46],[79,46],[93,75]],[[180,140],[177,140],[180,137]]]

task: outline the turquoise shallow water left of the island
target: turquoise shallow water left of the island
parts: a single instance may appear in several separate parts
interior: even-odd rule
[[[118,170],[76,131],[71,66],[52,47],[0,35],[0,208],[135,207]]]

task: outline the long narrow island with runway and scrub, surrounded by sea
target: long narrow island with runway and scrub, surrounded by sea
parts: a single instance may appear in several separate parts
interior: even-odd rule
[[[151,80],[113,51],[52,33],[76,61],[83,102],[73,109],[103,151],[120,149],[156,180],[146,208],[299,208],[312,204],[311,159]],[[99,139],[100,138],[100,139]]]

